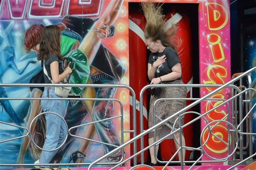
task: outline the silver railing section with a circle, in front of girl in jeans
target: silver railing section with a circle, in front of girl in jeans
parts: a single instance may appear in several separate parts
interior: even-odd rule
[[[57,86],[61,86],[61,87],[83,87],[83,88],[86,88],[86,87],[90,87],[90,88],[94,88],[94,87],[97,87],[97,88],[125,88],[125,89],[128,89],[131,94],[132,94],[132,103],[133,103],[133,130],[124,130],[123,129],[123,104],[122,102],[119,100],[119,99],[101,99],[101,98],[50,98],[49,97],[49,90],[47,88],[47,98],[0,98],[0,100],[93,100],[93,101],[115,101],[117,103],[120,104],[120,115],[118,116],[113,116],[111,118],[105,118],[105,119],[102,119],[102,120],[99,120],[99,121],[94,121],[94,122],[91,122],[91,123],[84,123],[84,124],[81,124],[81,125],[78,125],[78,126],[74,126],[74,127],[71,127],[68,129],[68,134],[66,134],[66,139],[67,139],[67,136],[70,135],[71,137],[76,137],[76,138],[79,138],[79,139],[83,139],[83,140],[88,140],[90,142],[97,142],[97,143],[100,143],[100,144],[103,144],[103,145],[111,145],[109,143],[104,143],[104,142],[100,142],[100,141],[95,141],[95,140],[92,140],[92,139],[88,139],[88,138],[84,138],[84,137],[79,137],[77,135],[74,135],[74,134],[71,134],[71,130],[74,129],[74,128],[78,128],[78,127],[84,127],[86,125],[89,125],[89,124],[94,124],[94,123],[99,123],[101,121],[106,121],[106,120],[109,120],[109,119],[114,119],[114,118],[121,118],[121,144],[123,144],[123,133],[125,132],[128,132],[128,133],[133,133],[133,137],[136,136],[136,96],[135,96],[135,92],[134,90],[129,87],[128,85],[98,85],[98,84],[87,84],[87,85],[81,85],[81,84],[0,84],[0,87],[57,87]],[[45,112],[46,113],[46,112]],[[16,140],[16,139],[19,139],[19,138],[23,138],[23,137],[30,137],[30,140],[33,142],[33,144],[40,150],[43,150],[43,151],[55,151],[57,149],[59,149],[61,146],[64,145],[64,143],[66,142],[66,139],[65,141],[60,145],[58,146],[57,148],[53,149],[53,150],[44,150],[43,148],[39,147],[38,145],[36,145],[36,143],[33,141],[32,137],[31,137],[31,126],[33,124],[33,122],[41,115],[45,114],[45,113],[40,113],[38,114],[35,118],[33,118],[32,122],[30,123],[30,128],[26,128],[26,127],[21,127],[21,126],[18,126],[18,125],[14,125],[14,124],[11,124],[11,123],[6,123],[6,122],[2,122],[0,121],[0,123],[3,123],[3,124],[6,124],[8,126],[13,126],[13,127],[18,127],[18,128],[22,128],[24,129],[24,131],[27,131],[27,133],[23,136],[20,136],[20,137],[14,137],[14,138],[11,138],[11,139],[6,139],[6,140],[3,140],[3,141],[0,141],[0,143],[4,143],[4,142],[9,142],[9,141],[13,141],[13,140]],[[49,112],[47,112],[49,113]],[[56,114],[57,116],[59,116],[57,113],[52,113],[52,114]],[[61,116],[59,116],[61,117]],[[62,118],[62,117],[61,117]],[[62,121],[65,121],[64,118],[62,118]],[[66,121],[65,121],[65,124],[66,124]],[[67,127],[67,124],[66,124],[66,128]],[[114,147],[118,147],[118,146],[115,146],[115,145],[111,145],[111,146],[114,146]],[[123,151],[123,148],[121,148],[121,151],[122,151],[122,159],[119,161],[123,161],[124,159],[124,151]],[[133,145],[133,152],[136,153],[137,152],[137,145],[134,144]],[[114,165],[114,164],[118,164],[119,162],[101,162],[101,163],[98,163],[98,165]],[[137,158],[134,157],[134,164],[137,163]],[[89,165],[90,163],[58,163],[58,164],[36,164],[37,166],[56,166],[56,165]],[[34,166],[35,164],[0,164],[0,166]]]

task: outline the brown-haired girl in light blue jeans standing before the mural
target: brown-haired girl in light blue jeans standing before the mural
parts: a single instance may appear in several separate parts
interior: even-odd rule
[[[60,52],[61,30],[57,25],[49,25],[43,29],[40,48],[38,51],[38,60],[41,61],[42,68],[47,71],[44,74],[45,83],[60,83],[64,78],[68,78],[72,70],[70,65],[65,70],[62,65],[62,56]],[[61,98],[54,93],[54,87],[48,87],[50,98]],[[44,88],[42,98],[47,98],[47,87]],[[64,117],[66,109],[65,100],[41,100],[41,106],[44,112],[53,112]],[[64,142],[67,131],[64,121],[52,113],[45,114],[46,118],[46,140],[43,145],[44,150],[57,148]],[[57,151],[42,151],[40,160],[36,163],[47,164]]]

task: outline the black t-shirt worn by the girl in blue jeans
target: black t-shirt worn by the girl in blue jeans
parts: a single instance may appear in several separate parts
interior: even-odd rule
[[[53,61],[58,61],[58,63],[59,63],[59,74],[62,74],[63,71],[64,71],[63,65],[62,65],[62,60],[59,59],[57,56],[51,54],[51,55],[48,57],[48,59],[44,61],[45,69],[46,69],[46,71],[47,71],[48,76],[49,76],[51,79],[52,79],[52,74],[51,74],[51,70],[50,70],[50,65],[51,65],[51,63],[52,63]],[[41,66],[42,66],[42,69],[43,69],[43,61],[41,61]],[[45,82],[45,83],[52,83],[52,82],[48,79],[48,77],[47,77],[45,74],[43,74],[43,76],[44,76],[44,82]]]

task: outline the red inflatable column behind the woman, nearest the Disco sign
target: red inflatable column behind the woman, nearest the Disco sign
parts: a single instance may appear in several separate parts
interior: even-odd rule
[[[179,38],[179,44],[177,53],[181,62],[182,80],[185,84],[192,84],[193,82],[193,70],[192,70],[192,47],[191,47],[191,31],[190,31],[190,19],[185,14],[176,12],[170,12],[166,15],[167,24],[166,31],[171,28],[172,24],[177,27],[177,36]],[[190,89],[188,89],[187,96],[190,96]],[[187,101],[190,104],[191,101]],[[193,119],[192,114],[185,115],[185,123],[188,123]],[[193,147],[193,127],[190,125],[183,129],[186,146]],[[164,140],[160,144],[161,159],[168,161],[176,152],[174,140]],[[186,151],[185,159],[188,160],[191,151]],[[178,160],[178,156],[175,157]]]

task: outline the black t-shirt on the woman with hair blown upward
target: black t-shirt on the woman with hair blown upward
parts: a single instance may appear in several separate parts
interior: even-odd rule
[[[166,61],[156,69],[156,77],[164,76],[172,72],[171,68],[179,63],[177,53],[171,47],[166,47],[163,52],[150,53],[148,63],[152,65],[159,57],[166,55]],[[157,75],[158,73],[158,75]],[[179,78],[180,79],[180,78]]]

